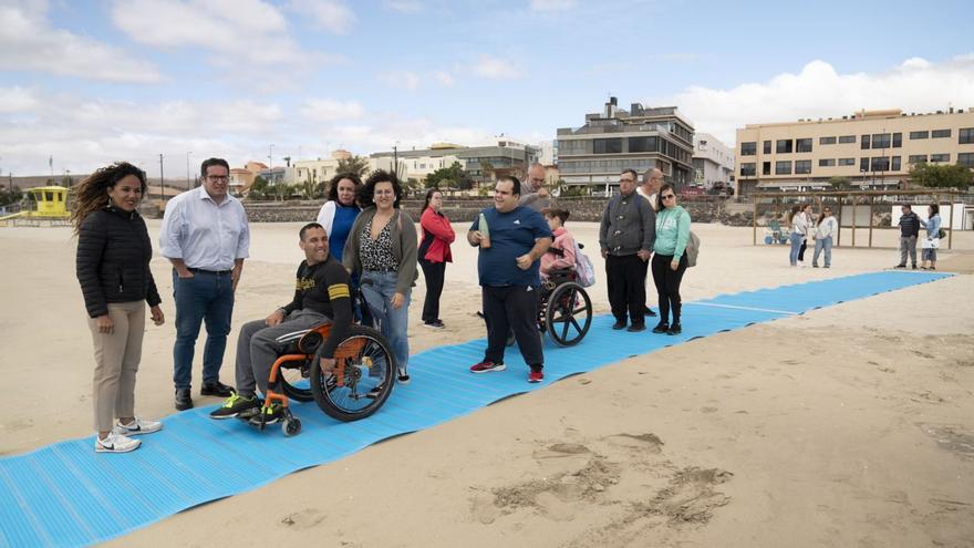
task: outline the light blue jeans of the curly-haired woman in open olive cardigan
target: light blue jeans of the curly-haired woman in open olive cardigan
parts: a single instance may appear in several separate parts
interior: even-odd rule
[[[410,320],[410,294],[412,289],[406,290],[403,306],[398,309],[392,308],[392,297],[395,294],[396,280],[398,272],[380,272],[376,270],[365,270],[362,272],[360,283],[362,286],[362,296],[369,303],[372,317],[382,334],[388,339],[392,345],[392,353],[396,359],[396,368],[398,372],[405,374],[406,366],[410,364],[410,340],[407,339],[407,328]]]

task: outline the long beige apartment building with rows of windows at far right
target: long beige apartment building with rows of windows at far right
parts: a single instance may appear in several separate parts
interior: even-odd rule
[[[860,111],[841,118],[737,130],[737,193],[827,188],[831,177],[895,188],[924,162],[974,168],[974,107],[935,113]]]

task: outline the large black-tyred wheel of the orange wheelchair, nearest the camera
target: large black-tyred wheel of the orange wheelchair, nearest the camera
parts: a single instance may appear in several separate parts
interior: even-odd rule
[[[352,325],[349,337],[335,350],[344,361],[342,379],[321,370],[321,349],[311,361],[311,393],[328,416],[358,421],[379,411],[395,384],[395,359],[382,333]]]

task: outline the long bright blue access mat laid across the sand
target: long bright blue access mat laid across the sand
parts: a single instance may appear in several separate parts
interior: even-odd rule
[[[546,342],[546,381],[528,384],[517,349],[508,369],[472,375],[485,341],[439,347],[412,358],[413,382],[396,386],[375,415],[354,423],[329,418],[314,403],[294,404],[303,430],[283,437],[239,421],[213,421],[213,407],[167,417],[162,432],[123,455],[96,454],[94,438],[61,442],[0,459],[0,547],[87,546],[194,506],[351,455],[392,436],[428,428],[515,394],[628,356],[757,322],[862,299],[950,275],[875,272],[684,303],[676,337],[613,331],[611,316],[593,319],[578,347]]]

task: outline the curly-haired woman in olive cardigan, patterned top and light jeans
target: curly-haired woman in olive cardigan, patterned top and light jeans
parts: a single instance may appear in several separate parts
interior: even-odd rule
[[[362,213],[352,225],[343,262],[360,275],[362,294],[388,339],[398,382],[410,382],[407,339],[410,293],[418,277],[416,227],[400,209],[403,187],[394,173],[374,172],[359,190]]]

